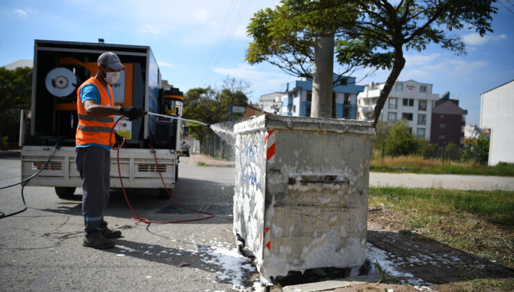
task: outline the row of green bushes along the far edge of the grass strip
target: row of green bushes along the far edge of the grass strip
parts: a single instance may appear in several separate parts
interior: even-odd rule
[[[379,121],[376,135],[372,139],[372,147],[376,152],[387,156],[422,156],[425,159],[442,158],[448,161],[472,161],[487,164],[489,155],[489,137],[482,133],[479,138],[465,139],[464,147],[454,143],[438,149],[437,144],[425,138],[417,138],[408,128],[406,120],[396,122]]]

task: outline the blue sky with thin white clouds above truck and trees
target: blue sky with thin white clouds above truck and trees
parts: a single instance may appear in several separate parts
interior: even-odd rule
[[[425,51],[406,52],[406,67],[399,81],[432,83],[433,92],[451,92],[468,110],[467,124],[479,124],[480,93],[514,79],[513,0],[499,0],[494,33],[480,38],[474,31],[459,31],[466,56],[456,56],[431,45]],[[187,91],[214,86],[227,75],[249,81],[249,98],[278,91],[294,77],[267,64],[250,66],[244,52],[251,41],[246,26],[261,8],[278,0],[217,1],[0,1],[0,66],[33,58],[33,42],[67,40],[147,45],[160,64],[163,79]],[[337,66],[335,66],[337,71]],[[388,72],[363,79],[383,82]],[[358,79],[361,79],[357,73]]]

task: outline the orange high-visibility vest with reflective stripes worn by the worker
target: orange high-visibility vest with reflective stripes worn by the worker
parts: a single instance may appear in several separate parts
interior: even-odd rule
[[[97,86],[100,92],[101,105],[102,106],[114,106],[114,95],[113,89],[109,88],[109,98],[106,88],[100,83],[100,81],[94,77],[91,77],[78,88],[77,93],[77,113],[78,113],[78,126],[76,127],[75,144],[85,145],[90,143],[97,143],[100,145],[114,145],[115,137],[111,135],[111,131],[114,126],[114,116],[109,115],[108,117],[92,117],[86,113],[84,105],[81,101],[81,88],[87,84],[93,83]]]

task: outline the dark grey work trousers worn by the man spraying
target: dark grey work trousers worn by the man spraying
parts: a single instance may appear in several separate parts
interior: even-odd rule
[[[82,179],[82,214],[84,234],[88,238],[101,236],[107,227],[103,220],[109,202],[110,152],[103,147],[75,149],[75,163]]]

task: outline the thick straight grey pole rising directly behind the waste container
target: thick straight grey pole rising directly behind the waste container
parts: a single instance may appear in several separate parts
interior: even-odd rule
[[[311,117],[332,117],[333,34],[316,38],[313,67]]]

